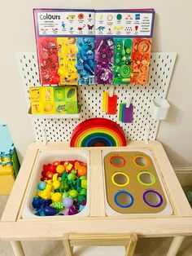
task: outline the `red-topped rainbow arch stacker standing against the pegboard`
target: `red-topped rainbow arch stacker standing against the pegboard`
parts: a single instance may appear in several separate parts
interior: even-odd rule
[[[82,121],[72,131],[71,147],[121,147],[126,146],[123,130],[107,118]]]

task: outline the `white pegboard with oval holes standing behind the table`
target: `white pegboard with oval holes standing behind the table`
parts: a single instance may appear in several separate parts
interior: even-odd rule
[[[153,99],[164,99],[172,76],[176,53],[151,53],[150,79],[147,86],[115,86],[120,103],[126,102],[128,95],[133,97],[133,123],[122,123],[116,115],[107,115],[102,111],[103,90],[109,86],[78,86],[78,100],[81,104],[81,118],[78,119],[48,119],[31,117],[36,141],[48,142],[70,141],[72,130],[81,121],[92,117],[107,117],[116,121],[124,130],[128,140],[146,139],[146,130],[150,127],[149,139],[154,140],[159,121],[151,118],[150,108]],[[37,55],[33,52],[17,54],[20,75],[22,77],[26,99],[29,108],[28,88],[41,86],[38,77]]]

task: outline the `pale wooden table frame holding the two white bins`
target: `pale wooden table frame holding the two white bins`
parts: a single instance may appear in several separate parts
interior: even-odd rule
[[[173,240],[169,255],[176,255],[183,236],[192,235],[192,210],[185,198],[180,183],[172,170],[164,148],[158,141],[148,144],[130,142],[127,148],[146,148],[151,150],[155,164],[163,180],[174,213],[171,216],[123,216],[107,217],[105,212],[103,167],[101,152],[103,148],[86,148],[90,152],[90,214],[89,217],[46,219],[22,219],[21,211],[24,204],[25,192],[33,173],[34,162],[41,150],[63,150],[69,148],[64,143],[29,145],[23,164],[20,168],[14,188],[12,189],[6,208],[0,222],[0,239],[11,241],[15,255],[24,255],[20,241],[60,240],[64,237],[79,234],[79,237],[91,235],[101,238],[108,235],[162,237],[178,236]],[[83,150],[85,148],[82,148]],[[106,149],[106,148],[105,148]],[[114,148],[113,148],[114,149]],[[118,148],[120,149],[120,148]],[[76,150],[76,148],[70,148]],[[80,149],[81,150],[81,149]],[[51,230],[51,232],[50,232]],[[135,235],[134,235],[135,234]],[[90,245],[90,244],[89,244]],[[112,245],[112,242],[111,242]]]

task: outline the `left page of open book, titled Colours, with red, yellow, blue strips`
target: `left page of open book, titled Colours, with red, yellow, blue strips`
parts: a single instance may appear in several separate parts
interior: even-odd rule
[[[34,9],[41,84],[94,84],[94,10]]]

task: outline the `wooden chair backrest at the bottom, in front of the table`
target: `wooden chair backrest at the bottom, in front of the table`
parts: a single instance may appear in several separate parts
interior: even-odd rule
[[[133,256],[137,245],[137,234],[64,234],[63,249],[66,256],[72,256],[73,246],[125,246],[125,256]]]

